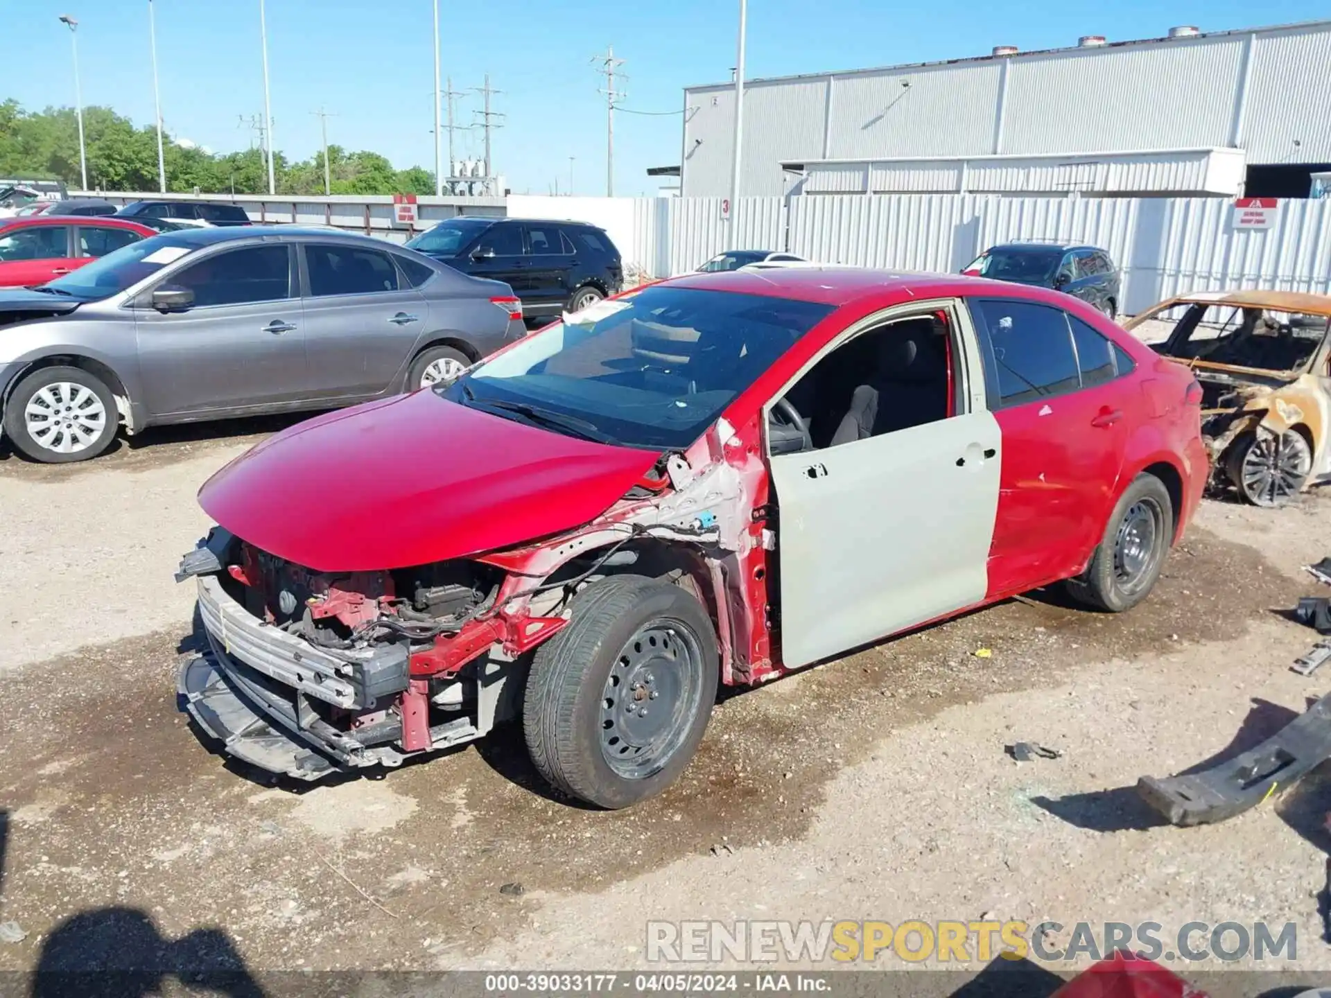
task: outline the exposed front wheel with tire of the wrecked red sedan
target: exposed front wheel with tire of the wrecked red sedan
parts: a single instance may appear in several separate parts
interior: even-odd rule
[[[703,740],[717,659],[712,620],[687,589],[639,575],[594,583],[534,656],[522,713],[531,761],[599,808],[660,793]],[[648,705],[667,704],[644,723]]]

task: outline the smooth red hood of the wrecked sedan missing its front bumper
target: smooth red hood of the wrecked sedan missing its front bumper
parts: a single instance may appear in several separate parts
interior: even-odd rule
[[[198,502],[236,536],[307,568],[403,568],[587,523],[659,456],[417,391],[272,436],[208,479]]]

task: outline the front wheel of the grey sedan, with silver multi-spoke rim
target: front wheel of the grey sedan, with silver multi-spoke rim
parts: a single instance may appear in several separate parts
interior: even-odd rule
[[[118,426],[110,389],[81,367],[37,369],[19,382],[4,413],[4,431],[13,446],[47,464],[96,458],[110,446]]]

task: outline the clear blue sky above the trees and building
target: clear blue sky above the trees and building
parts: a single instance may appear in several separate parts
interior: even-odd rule
[[[253,141],[238,126],[264,109],[258,0],[156,0],[162,116],[177,136],[214,150]],[[329,141],[382,152],[397,166],[433,169],[431,0],[268,0],[269,69],[278,149],[294,158]],[[443,72],[457,90],[484,73],[507,114],[494,160],[516,190],[606,189],[606,102],[592,56],[614,44],[627,60],[626,108],[683,106],[688,84],[729,79],[737,0],[441,0]],[[153,120],[148,0],[0,0],[0,98],[24,106],[73,104],[68,31],[80,20],[85,104],[105,104],[137,124]],[[1174,24],[1203,31],[1327,16],[1316,0],[1115,0],[1044,3],[900,3],[900,0],[749,0],[748,76],[853,69],[1163,35]],[[459,102],[474,118],[479,94]],[[680,116],[620,113],[615,120],[615,190],[655,190],[647,166],[679,161]],[[479,156],[480,132],[459,133],[458,156]]]

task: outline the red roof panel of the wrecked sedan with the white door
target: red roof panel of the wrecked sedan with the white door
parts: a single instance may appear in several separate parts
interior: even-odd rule
[[[954,298],[978,293],[1001,298],[1028,298],[1063,307],[1069,298],[1061,291],[1014,285],[962,274],[926,274],[905,270],[872,270],[851,266],[789,266],[753,270],[720,270],[692,273],[671,278],[656,286],[689,287],[736,294],[761,294],[771,298],[820,305],[847,306],[880,301],[884,305],[910,298]]]

